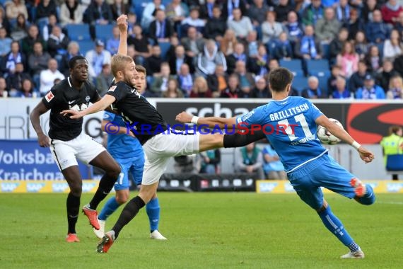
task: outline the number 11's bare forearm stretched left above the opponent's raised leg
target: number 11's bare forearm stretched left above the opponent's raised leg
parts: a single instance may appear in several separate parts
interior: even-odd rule
[[[234,118],[220,118],[220,117],[207,117],[207,118],[199,118],[194,115],[190,115],[189,113],[183,111],[176,115],[176,120],[182,123],[194,123],[197,125],[209,125],[209,127],[229,127],[230,129],[236,125],[235,117]]]

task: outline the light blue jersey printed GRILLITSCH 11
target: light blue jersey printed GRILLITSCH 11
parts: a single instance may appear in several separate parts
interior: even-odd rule
[[[321,115],[307,99],[290,96],[259,106],[236,122],[248,128],[261,125],[289,173],[327,153],[316,135],[315,120]]]

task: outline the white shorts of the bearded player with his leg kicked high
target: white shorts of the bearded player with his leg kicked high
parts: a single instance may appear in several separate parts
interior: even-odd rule
[[[199,153],[200,135],[156,135],[143,145],[146,162],[144,164],[143,185],[151,185],[160,180],[168,161],[173,156]]]

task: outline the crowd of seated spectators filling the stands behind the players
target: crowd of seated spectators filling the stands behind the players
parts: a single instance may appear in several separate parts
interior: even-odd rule
[[[116,18],[146,67],[146,97],[270,98],[267,74],[305,98],[403,98],[402,0],[0,0],[0,96],[44,96],[83,55],[107,91]]]

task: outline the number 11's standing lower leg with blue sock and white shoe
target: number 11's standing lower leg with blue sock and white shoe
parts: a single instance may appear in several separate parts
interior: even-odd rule
[[[326,207],[327,206],[327,207]],[[364,258],[364,253],[361,251],[360,246],[354,242],[349,233],[344,229],[344,225],[341,221],[333,214],[327,202],[324,201],[324,205],[320,210],[317,210],[320,219],[322,219],[325,227],[334,234],[344,246],[348,247],[350,252],[341,256],[340,258]]]

